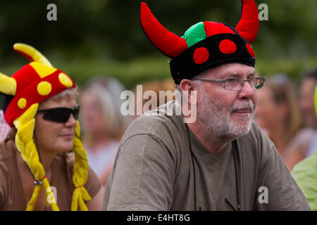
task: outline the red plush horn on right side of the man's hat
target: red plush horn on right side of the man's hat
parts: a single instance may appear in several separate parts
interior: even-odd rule
[[[235,30],[251,44],[259,30],[258,8],[254,0],[242,0],[242,13]]]

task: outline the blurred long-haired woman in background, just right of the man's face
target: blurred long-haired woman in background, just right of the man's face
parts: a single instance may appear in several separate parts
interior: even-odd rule
[[[299,132],[302,115],[297,89],[287,75],[267,79],[266,85],[258,91],[254,120],[273,141],[288,169],[291,170],[294,164],[305,158],[308,150],[305,143],[312,134]]]

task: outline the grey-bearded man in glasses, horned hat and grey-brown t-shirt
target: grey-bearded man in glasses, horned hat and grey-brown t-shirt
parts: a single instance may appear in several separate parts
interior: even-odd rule
[[[244,0],[237,27],[200,22],[182,37],[141,4],[151,43],[170,56],[182,115],[142,115],[120,142],[103,210],[310,210],[274,144],[252,122],[256,77],[250,43],[259,27],[254,0]],[[178,99],[180,100],[180,99]],[[186,123],[187,122],[187,123]]]

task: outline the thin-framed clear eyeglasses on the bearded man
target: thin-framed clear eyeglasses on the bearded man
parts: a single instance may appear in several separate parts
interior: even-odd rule
[[[251,77],[249,79],[243,79],[239,77],[232,77],[228,79],[208,79],[208,78],[197,78],[198,80],[202,80],[204,82],[213,82],[224,84],[224,88],[228,91],[240,91],[244,82],[249,82],[249,85],[254,90],[261,89],[265,82],[264,77]]]

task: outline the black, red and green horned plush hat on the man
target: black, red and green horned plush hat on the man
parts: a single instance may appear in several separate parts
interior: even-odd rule
[[[156,20],[144,2],[140,20],[151,43],[172,58],[170,72],[175,84],[224,63],[255,65],[251,43],[259,30],[259,18],[254,0],[242,0],[242,14],[235,28],[225,23],[199,22],[178,37]]]

